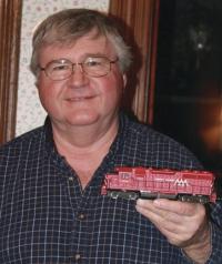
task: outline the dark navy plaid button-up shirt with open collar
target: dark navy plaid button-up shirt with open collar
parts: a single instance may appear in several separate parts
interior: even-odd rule
[[[114,166],[200,167],[171,139],[120,118],[119,134],[84,191],[60,156],[49,120],[0,149],[0,264],[192,263],[168,243],[134,201],[100,194]],[[222,207],[211,213],[213,251],[222,263]]]

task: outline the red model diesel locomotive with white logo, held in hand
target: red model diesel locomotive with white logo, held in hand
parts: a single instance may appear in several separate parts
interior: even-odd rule
[[[152,167],[115,167],[105,174],[101,194],[129,200],[165,197],[185,202],[214,203],[215,176],[208,171]]]

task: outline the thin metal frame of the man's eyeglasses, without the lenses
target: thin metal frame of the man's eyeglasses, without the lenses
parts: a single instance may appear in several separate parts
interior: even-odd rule
[[[103,59],[105,59],[105,60],[108,61],[108,63],[109,63],[109,69],[108,69],[108,71],[107,71],[104,74],[101,74],[101,75],[88,73],[88,72],[84,70],[84,62],[85,62],[88,59],[90,59],[90,58],[103,58]],[[51,63],[53,63],[53,62],[59,62],[59,61],[62,61],[62,60],[65,61],[65,62],[68,62],[68,63],[70,63],[70,65],[71,65],[70,74],[69,74],[68,77],[65,77],[65,78],[54,79],[54,78],[52,78],[52,77],[49,74],[49,72],[48,72],[49,65],[50,65]],[[100,77],[105,77],[105,75],[111,71],[111,64],[113,64],[113,63],[115,63],[115,62],[118,62],[118,61],[119,61],[119,58],[117,58],[115,60],[110,60],[110,59],[107,58],[107,57],[99,57],[99,55],[88,57],[88,58],[85,58],[84,62],[72,62],[72,61],[70,61],[70,60],[68,60],[68,59],[57,59],[57,60],[52,60],[52,61],[48,62],[44,68],[39,65],[39,69],[40,69],[41,71],[44,71],[44,74],[46,74],[49,79],[51,79],[52,81],[63,81],[63,80],[69,79],[69,78],[74,73],[74,68],[75,68],[75,65],[80,67],[82,73],[84,73],[84,74],[87,74],[87,75],[89,75],[89,77],[100,78]],[[61,63],[61,65],[62,65],[62,63]]]

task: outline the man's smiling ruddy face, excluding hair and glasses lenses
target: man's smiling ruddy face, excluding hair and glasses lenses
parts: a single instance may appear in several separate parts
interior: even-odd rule
[[[93,37],[91,32],[73,45],[42,48],[39,64],[44,68],[58,59],[81,63],[91,55],[115,60],[117,54],[109,41],[104,37]],[[115,116],[124,84],[125,75],[118,63],[112,63],[111,71],[104,77],[90,77],[75,65],[74,73],[67,80],[53,81],[41,71],[37,82],[41,103],[52,122],[64,125],[91,125]]]

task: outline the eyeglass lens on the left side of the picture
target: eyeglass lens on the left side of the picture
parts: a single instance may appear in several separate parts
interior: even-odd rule
[[[72,63],[68,60],[52,61],[47,65],[46,73],[54,81],[64,80],[72,74]]]

